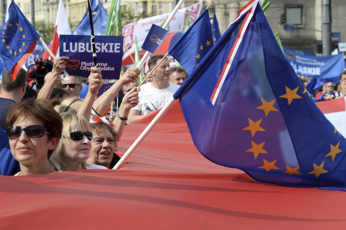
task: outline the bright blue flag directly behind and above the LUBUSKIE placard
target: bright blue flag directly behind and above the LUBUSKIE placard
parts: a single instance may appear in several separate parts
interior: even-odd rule
[[[92,0],[92,21],[94,25],[94,35],[104,35],[106,31],[108,14],[103,8],[101,1]],[[72,31],[73,35],[91,35],[89,11],[86,9],[83,19],[79,22],[76,28]]]

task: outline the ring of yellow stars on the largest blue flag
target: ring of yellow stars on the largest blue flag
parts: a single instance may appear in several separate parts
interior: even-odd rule
[[[297,94],[298,90],[299,90],[299,86],[294,88],[294,89],[291,89],[291,88],[285,86],[286,93],[279,96],[279,98],[286,99],[288,102],[288,105],[291,105],[291,103],[294,102],[294,99],[301,99],[302,98],[300,95]],[[311,98],[311,95],[309,94],[309,92],[306,88],[304,88],[302,94],[307,94],[309,96],[309,98]],[[262,105],[256,107],[256,109],[263,109],[264,115],[265,115],[265,117],[267,117],[270,112],[277,112],[278,111],[274,107],[275,101],[276,101],[276,99],[271,100],[270,102],[267,102],[265,99],[263,99],[261,97]],[[252,119],[248,118],[249,125],[247,127],[243,128],[242,130],[250,131],[251,136],[254,137],[256,132],[265,132],[264,128],[261,127],[261,122],[262,122],[262,119],[259,119],[258,121],[255,122]],[[339,131],[336,129],[336,127],[334,127],[334,134],[336,134],[336,133],[341,137]],[[254,157],[256,160],[257,156],[260,153],[261,154],[267,154],[268,153],[263,148],[264,144],[265,144],[265,142],[257,144],[251,140],[251,146],[252,147],[249,148],[248,150],[245,150],[245,152],[252,152],[254,154]],[[330,144],[330,152],[327,153],[325,155],[325,157],[330,156],[331,160],[334,162],[336,155],[343,152],[342,150],[339,149],[339,145],[340,145],[340,141],[338,143],[336,143],[336,145]],[[263,158],[263,165],[259,166],[257,168],[258,169],[264,169],[266,172],[269,172],[270,170],[280,170],[279,167],[275,166],[276,161],[277,161],[277,159],[269,162]],[[318,178],[321,174],[328,173],[328,171],[326,169],[324,169],[324,163],[325,163],[325,161],[323,161],[320,165],[312,163],[313,170],[311,172],[308,172],[307,174],[314,174],[315,177]],[[286,165],[286,171],[282,171],[282,173],[287,173],[289,175],[302,174],[301,172],[298,171],[299,167],[300,166],[291,167],[289,165]]]

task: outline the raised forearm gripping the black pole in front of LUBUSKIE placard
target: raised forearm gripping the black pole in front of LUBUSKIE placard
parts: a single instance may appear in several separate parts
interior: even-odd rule
[[[92,104],[95,101],[97,92],[102,86],[101,69],[91,67],[89,75],[89,90],[85,96],[82,106],[78,110],[78,115],[85,117],[87,121],[90,120]]]

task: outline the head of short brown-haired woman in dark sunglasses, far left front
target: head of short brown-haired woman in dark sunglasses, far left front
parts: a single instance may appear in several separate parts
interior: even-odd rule
[[[19,161],[16,175],[56,172],[47,159],[62,131],[62,119],[47,100],[26,99],[11,108],[6,119],[11,153]]]

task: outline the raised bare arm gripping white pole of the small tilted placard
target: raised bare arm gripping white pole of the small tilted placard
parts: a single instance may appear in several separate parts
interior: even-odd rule
[[[113,102],[115,96],[122,86],[128,82],[134,83],[139,74],[140,71],[138,68],[128,68],[116,83],[114,83],[106,92],[95,100],[94,104],[92,105],[95,111],[102,116],[106,112],[109,105]]]

